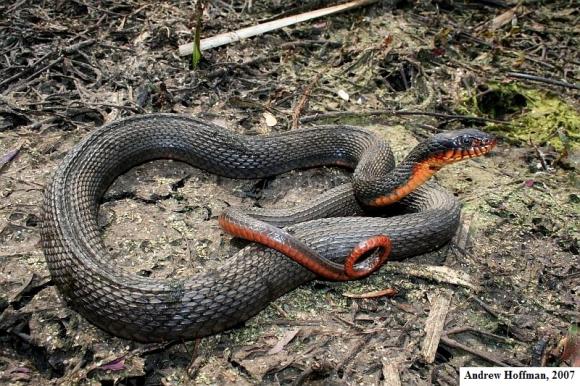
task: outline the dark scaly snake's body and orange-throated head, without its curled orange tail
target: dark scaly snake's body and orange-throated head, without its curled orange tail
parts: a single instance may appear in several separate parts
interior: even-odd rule
[[[445,165],[488,153],[495,143],[476,129],[441,132],[396,165],[387,139],[362,127],[243,135],[185,115],[137,115],[91,131],[56,168],[44,192],[42,247],[65,304],[97,327],[140,342],[204,337],[243,324],[319,275],[307,263],[259,243],[249,243],[219,268],[187,278],[130,273],[115,264],[97,221],[103,196],[118,176],[156,159],[239,179],[324,165],[348,168],[351,182],[303,204],[243,213],[283,229],[336,264],[361,242],[386,236],[390,261],[449,242],[459,225],[459,201],[428,180]],[[220,222],[235,228],[237,217],[230,215],[226,211]],[[286,245],[276,234],[254,233]]]

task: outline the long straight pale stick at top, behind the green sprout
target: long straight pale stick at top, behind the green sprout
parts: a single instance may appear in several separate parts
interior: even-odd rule
[[[204,51],[210,48],[223,46],[225,44],[237,42],[245,38],[249,38],[256,35],[262,35],[266,32],[298,24],[306,20],[316,19],[322,16],[331,15],[334,13],[362,7],[376,2],[378,2],[378,0],[356,0],[348,2],[346,4],[335,5],[333,7],[318,9],[316,11],[306,12],[300,15],[289,16],[283,19],[270,21],[264,24],[258,24],[252,27],[242,28],[233,32],[226,32],[223,34],[212,36],[210,38],[202,39],[200,42],[200,49]],[[192,53],[193,53],[193,43],[187,43],[179,46],[180,56],[187,56],[191,55]]]

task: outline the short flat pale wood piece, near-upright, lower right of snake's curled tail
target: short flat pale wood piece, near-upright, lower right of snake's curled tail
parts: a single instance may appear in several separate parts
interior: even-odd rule
[[[451,294],[446,291],[442,291],[431,302],[431,311],[425,322],[425,338],[421,348],[421,356],[427,363],[435,361],[437,347],[439,347],[439,341],[441,340],[441,335],[443,335],[445,318],[447,317],[447,312],[449,312],[450,305]]]

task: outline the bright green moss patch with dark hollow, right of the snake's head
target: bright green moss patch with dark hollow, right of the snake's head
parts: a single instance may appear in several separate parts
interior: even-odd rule
[[[509,120],[490,130],[516,142],[550,144],[556,150],[580,149],[580,113],[557,96],[514,83],[490,84],[467,100],[465,113]]]

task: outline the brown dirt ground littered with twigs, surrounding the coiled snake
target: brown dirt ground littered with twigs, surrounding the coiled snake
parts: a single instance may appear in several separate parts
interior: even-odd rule
[[[202,37],[335,3],[212,0]],[[2,2],[0,383],[455,385],[461,366],[579,366],[580,11],[516,3],[379,1],[208,50],[194,69],[177,50],[193,40],[193,1]],[[67,151],[147,112],[245,134],[355,123],[399,159],[461,126],[500,144],[437,175],[463,203],[442,250],[312,282],[232,331],[144,345],[64,306],[39,228]],[[288,206],[348,180],[321,168],[237,181],[158,161],[115,182],[100,222],[119,265],[188,277],[245,245],[218,228],[227,205]]]

